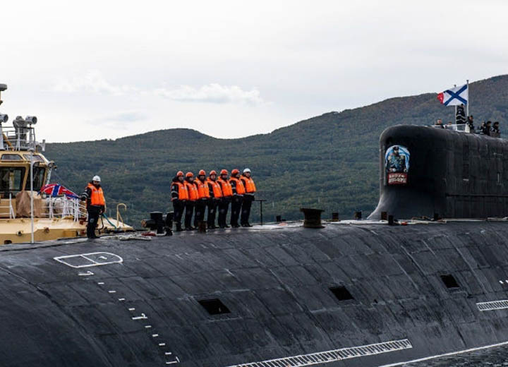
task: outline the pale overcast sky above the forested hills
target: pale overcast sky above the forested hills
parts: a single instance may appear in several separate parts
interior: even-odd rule
[[[508,73],[508,1],[4,1],[0,112],[75,141],[269,133]]]

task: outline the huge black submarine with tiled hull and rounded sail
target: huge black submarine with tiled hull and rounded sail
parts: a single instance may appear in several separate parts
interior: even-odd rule
[[[0,246],[2,366],[399,366],[508,344],[508,140],[380,137],[366,220]]]

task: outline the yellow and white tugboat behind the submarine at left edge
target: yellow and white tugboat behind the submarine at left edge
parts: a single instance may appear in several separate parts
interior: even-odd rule
[[[6,89],[0,84],[0,93]],[[56,164],[42,155],[45,141],[35,139],[37,117],[17,116],[11,126],[7,122],[8,115],[0,114],[0,244],[85,236],[87,211],[78,196],[68,190],[41,192]],[[116,219],[104,217],[98,227],[101,232],[133,231],[121,221],[118,207]]]

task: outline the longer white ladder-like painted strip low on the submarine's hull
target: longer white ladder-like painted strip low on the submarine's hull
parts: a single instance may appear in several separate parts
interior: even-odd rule
[[[270,359],[261,362],[242,363],[229,367],[311,366],[314,364],[330,363],[361,356],[373,356],[375,354],[388,353],[391,351],[401,351],[411,348],[413,348],[413,345],[411,342],[409,342],[409,339],[400,339],[383,343],[361,345],[359,347],[348,347],[330,351],[320,351],[312,354],[300,354],[298,356]],[[176,359],[178,360],[178,357],[176,357]]]

